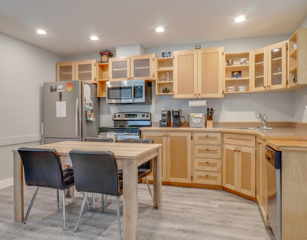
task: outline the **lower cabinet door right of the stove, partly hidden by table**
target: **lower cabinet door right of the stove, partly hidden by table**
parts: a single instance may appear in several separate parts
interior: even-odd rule
[[[166,181],[166,133],[165,132],[142,132],[143,138],[153,139],[153,143],[162,144],[162,181]],[[153,180],[153,171],[147,176],[148,180]]]

